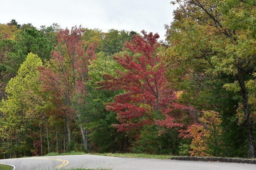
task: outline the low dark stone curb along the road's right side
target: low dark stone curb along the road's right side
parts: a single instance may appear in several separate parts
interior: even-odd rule
[[[256,159],[241,158],[220,158],[220,157],[196,157],[196,156],[176,156],[169,158],[182,161],[204,161],[204,162],[233,162],[233,163],[251,163],[256,164]]]

